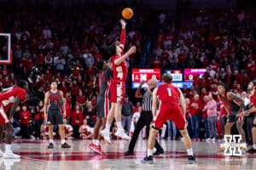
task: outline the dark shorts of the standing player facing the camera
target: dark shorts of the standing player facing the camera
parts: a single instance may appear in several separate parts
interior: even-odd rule
[[[63,124],[63,116],[60,110],[48,110],[47,123],[48,125]]]

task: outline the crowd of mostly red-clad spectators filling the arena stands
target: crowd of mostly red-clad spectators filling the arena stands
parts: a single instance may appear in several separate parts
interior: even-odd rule
[[[20,127],[23,138],[29,138],[27,134],[42,139],[47,136],[47,127],[42,125],[42,107],[51,79],[59,82],[67,101],[66,122],[72,126],[67,126],[67,138],[87,139],[93,133],[98,93],[96,63],[108,59],[108,45],[119,38],[120,29],[120,10],[115,6],[93,5],[93,8],[90,4],[54,8],[43,3],[0,7],[0,32],[11,33],[13,51],[13,64],[1,65],[1,87],[14,85],[17,78],[27,79],[33,69],[38,68],[38,77],[32,77],[38,78],[38,82],[30,83],[31,100],[20,105],[15,114],[14,127]],[[127,60],[129,68],[148,66],[139,63],[152,36],[150,66],[174,70],[206,68],[203,77],[195,78],[192,88],[183,87],[188,104],[189,134],[196,140],[221,139],[225,112],[218,101],[218,82],[225,82],[234,93],[248,98],[247,83],[256,76],[256,15],[232,8],[191,9],[188,15],[178,11],[154,11],[136,3],[133,6],[136,14],[127,24],[125,48],[136,45],[137,54]],[[36,104],[31,102],[35,100]],[[217,111],[211,116],[216,119],[209,121],[207,105],[212,100]],[[138,105],[133,112],[137,111]],[[136,122],[136,117],[129,122]],[[245,120],[251,121],[250,117],[253,115]],[[34,132],[26,133],[28,131]],[[178,137],[173,122],[166,122],[166,132],[162,130],[161,137]],[[250,138],[247,133],[247,140]]]

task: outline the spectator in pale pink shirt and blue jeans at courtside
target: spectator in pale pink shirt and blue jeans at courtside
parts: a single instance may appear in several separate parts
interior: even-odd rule
[[[209,129],[209,139],[212,139],[212,142],[216,139],[217,134],[217,103],[212,98],[212,94],[208,95],[207,105],[203,108],[203,111],[207,111],[207,122]],[[207,139],[207,140],[209,140]]]

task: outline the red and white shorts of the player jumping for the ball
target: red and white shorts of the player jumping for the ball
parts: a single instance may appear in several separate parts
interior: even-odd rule
[[[110,83],[110,102],[123,103],[125,98],[125,82],[111,82]]]

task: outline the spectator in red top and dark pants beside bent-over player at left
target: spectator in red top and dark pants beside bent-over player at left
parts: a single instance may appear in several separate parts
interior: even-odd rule
[[[31,120],[31,112],[27,110],[26,105],[23,105],[20,111],[20,133],[23,139],[29,139],[30,134],[28,125]]]

